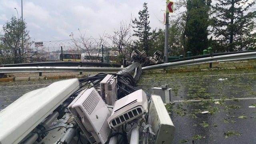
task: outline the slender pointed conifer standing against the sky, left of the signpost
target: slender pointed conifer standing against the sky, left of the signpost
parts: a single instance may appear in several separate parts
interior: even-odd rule
[[[135,18],[134,20],[132,20],[132,23],[135,25],[132,26],[132,28],[136,28],[136,30],[134,30],[133,36],[137,36],[139,38],[139,41],[136,42],[139,46],[139,49],[148,52],[151,46],[151,28],[149,26],[150,21],[148,14],[148,6],[146,2],[144,2],[143,4],[143,10],[140,10],[138,14],[139,18]]]

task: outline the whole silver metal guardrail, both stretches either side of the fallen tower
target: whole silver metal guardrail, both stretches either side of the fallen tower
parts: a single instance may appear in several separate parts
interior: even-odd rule
[[[153,66],[143,67],[142,70],[154,70],[154,69],[165,69],[174,68],[179,66],[188,66],[195,64],[206,64],[210,62],[226,62],[233,60],[246,60],[256,58],[256,52],[246,52],[239,54],[229,54],[222,56],[213,56],[207,58],[198,58],[193,60],[184,60],[179,62],[169,62],[165,64],[158,64]],[[99,67],[0,67],[1,73],[21,73],[21,72],[117,72],[123,68],[99,68]]]

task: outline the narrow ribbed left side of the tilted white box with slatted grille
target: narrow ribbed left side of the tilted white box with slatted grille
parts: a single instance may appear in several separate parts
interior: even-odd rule
[[[69,108],[70,112],[73,114],[74,119],[78,123],[78,126],[81,128],[81,130],[84,132],[86,138],[90,141],[91,144],[97,144],[95,138],[92,136],[92,133],[90,133],[82,123],[82,118],[79,116],[78,112],[76,111],[75,108]]]

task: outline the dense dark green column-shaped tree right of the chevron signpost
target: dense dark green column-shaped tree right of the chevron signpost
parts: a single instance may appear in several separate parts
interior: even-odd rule
[[[192,54],[202,54],[208,47],[209,10],[211,0],[188,0],[186,13],[185,46]]]

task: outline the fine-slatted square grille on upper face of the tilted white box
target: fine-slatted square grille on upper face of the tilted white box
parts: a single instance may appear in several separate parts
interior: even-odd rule
[[[99,103],[100,98],[97,96],[97,94],[93,91],[88,98],[83,102],[84,109],[88,112],[89,115],[92,114],[93,110]]]

